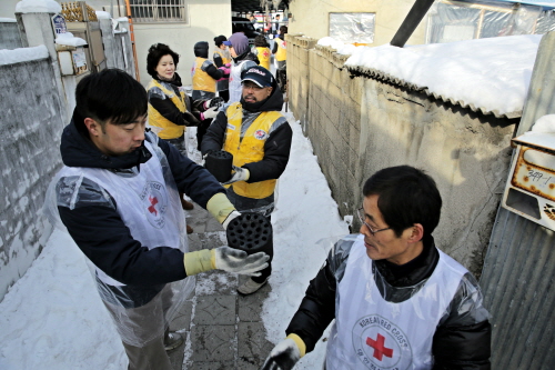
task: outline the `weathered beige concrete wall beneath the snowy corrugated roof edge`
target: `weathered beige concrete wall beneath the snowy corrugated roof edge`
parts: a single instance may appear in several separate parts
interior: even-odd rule
[[[421,168],[435,179],[444,201],[434,232],[438,247],[478,276],[517,120],[352,77],[342,68],[345,56],[322,47],[303,50],[300,38],[289,40],[287,59],[300,67],[287,68],[291,110],[301,118],[341,214],[355,214],[362,187],[375,171],[398,164]],[[299,78],[304,74],[306,81]],[[353,231],[359,226],[355,221]]]

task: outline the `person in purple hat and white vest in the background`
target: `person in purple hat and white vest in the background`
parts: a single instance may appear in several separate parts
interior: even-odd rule
[[[234,103],[241,100],[241,73],[250,67],[259,64],[259,58],[252,53],[249,48],[249,39],[242,32],[233,33],[228,41],[223,43],[230,47],[232,58],[230,73],[230,100],[229,103]]]

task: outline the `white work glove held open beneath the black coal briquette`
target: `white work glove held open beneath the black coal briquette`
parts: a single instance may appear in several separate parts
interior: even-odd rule
[[[245,251],[220,247],[214,249],[215,268],[226,272],[240,274],[250,274],[251,277],[260,277],[260,270],[268,267],[270,256],[264,252],[246,254]]]

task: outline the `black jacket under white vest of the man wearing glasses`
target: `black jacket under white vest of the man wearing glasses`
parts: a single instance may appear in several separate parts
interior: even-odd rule
[[[325,328],[335,319],[335,291],[343,278],[353,240],[340,240],[324,267],[310,282],[306,294],[286,329],[297,334],[312,351]],[[404,266],[385,260],[373,261],[375,283],[390,302],[402,302],[424,286],[434,271],[440,254],[432,237],[424,240],[423,252]],[[384,288],[383,281],[387,283]],[[411,287],[407,289],[407,287]],[[404,289],[400,289],[404,288]],[[462,304],[464,303],[464,304]],[[491,369],[491,326],[482,306],[476,280],[466,273],[447,312],[442,317],[432,343],[434,370]]]

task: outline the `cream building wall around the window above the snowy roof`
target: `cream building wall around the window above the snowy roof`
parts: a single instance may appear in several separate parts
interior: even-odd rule
[[[372,47],[389,43],[405,19],[414,0],[303,0],[291,1],[289,19],[290,33],[303,33],[321,39],[330,36],[331,12],[372,12],[376,13],[375,36]],[[416,28],[407,44],[424,43],[426,19]]]

